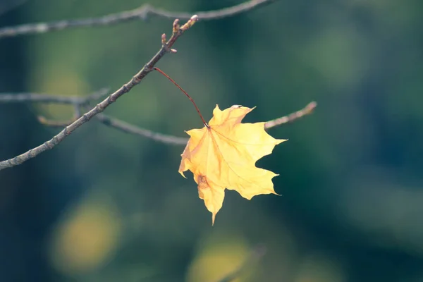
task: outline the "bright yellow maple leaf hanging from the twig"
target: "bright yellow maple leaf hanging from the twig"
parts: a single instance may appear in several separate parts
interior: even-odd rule
[[[183,177],[184,171],[193,173],[198,195],[212,212],[212,224],[222,207],[225,188],[248,200],[276,194],[271,179],[278,174],[257,168],[255,163],[286,140],[267,134],[264,123],[241,123],[253,109],[235,105],[221,111],[216,105],[208,125],[187,131],[190,140],[181,154],[179,173]]]

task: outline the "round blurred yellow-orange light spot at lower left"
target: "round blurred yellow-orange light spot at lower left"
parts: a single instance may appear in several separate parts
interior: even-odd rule
[[[111,203],[82,202],[56,226],[51,240],[51,264],[63,274],[96,269],[116,248],[120,225]]]

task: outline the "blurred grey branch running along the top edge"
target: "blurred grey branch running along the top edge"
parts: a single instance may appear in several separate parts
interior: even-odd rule
[[[149,16],[159,16],[161,18],[179,18],[180,20],[190,19],[192,14],[196,14],[200,20],[217,20],[235,16],[239,13],[245,13],[255,8],[266,6],[276,0],[251,0],[242,4],[222,8],[215,11],[199,11],[197,13],[178,13],[154,8],[149,4],[145,4],[130,11],[121,13],[112,13],[100,18],[85,18],[80,20],[59,20],[51,23],[29,23],[25,25],[16,25],[12,27],[0,28],[1,37],[12,37],[17,35],[28,35],[34,33],[52,32],[56,30],[64,30],[72,27],[96,27],[104,25],[114,25],[118,23],[128,22],[130,20],[147,20]]]

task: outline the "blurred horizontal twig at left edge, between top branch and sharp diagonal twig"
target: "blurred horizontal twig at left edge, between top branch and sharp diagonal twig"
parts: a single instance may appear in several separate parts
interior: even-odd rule
[[[61,96],[51,94],[38,94],[38,93],[0,93],[0,104],[4,103],[51,103],[51,104],[72,104],[83,105],[87,102],[97,100],[104,97],[109,92],[109,89],[102,89],[94,92],[86,97],[80,96]]]

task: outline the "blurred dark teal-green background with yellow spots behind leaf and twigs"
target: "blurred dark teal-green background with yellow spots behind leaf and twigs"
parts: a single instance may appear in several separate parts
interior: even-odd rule
[[[0,26],[87,18],[140,0],[3,0]],[[169,11],[240,1],[157,0]],[[11,8],[12,6],[14,8]],[[423,2],[276,1],[199,22],[158,66],[204,116],[257,106],[267,121],[317,101],[269,133],[289,139],[258,166],[275,195],[227,191],[212,226],[197,187],[178,174],[183,147],[91,121],[55,149],[0,171],[0,281],[217,281],[257,244],[238,281],[423,281]],[[159,49],[172,20],[150,18],[0,40],[0,92],[85,96],[116,90]],[[106,114],[184,137],[202,123],[151,73]],[[58,129],[68,106],[0,104],[0,158]]]

